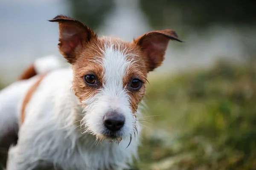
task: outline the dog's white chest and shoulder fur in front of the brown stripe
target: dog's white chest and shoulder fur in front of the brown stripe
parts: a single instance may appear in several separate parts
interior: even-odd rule
[[[8,170],[48,164],[64,170],[118,170],[132,162],[137,153],[135,140],[125,149],[129,139],[118,146],[115,142],[99,143],[94,136],[81,133],[76,117],[81,116],[83,108],[71,91],[72,80],[72,70],[63,69],[52,71],[41,81],[27,105],[18,144],[9,152]],[[29,81],[35,83],[34,79]]]

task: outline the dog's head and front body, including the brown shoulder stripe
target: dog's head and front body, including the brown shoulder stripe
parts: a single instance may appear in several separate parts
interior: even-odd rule
[[[125,42],[63,15],[49,21],[59,25],[58,48],[71,68],[26,79],[7,170],[128,169],[138,158],[147,74],[162,64],[169,40],[182,41],[170,29]]]

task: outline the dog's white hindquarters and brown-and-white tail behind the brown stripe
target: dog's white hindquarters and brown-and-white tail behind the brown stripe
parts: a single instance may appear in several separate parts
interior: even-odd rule
[[[17,143],[20,106],[23,96],[37,81],[38,74],[64,67],[64,63],[54,55],[38,58],[18,78],[19,81],[0,91],[0,169],[6,163],[10,144]],[[27,80],[29,79],[29,80]]]

